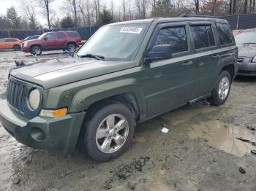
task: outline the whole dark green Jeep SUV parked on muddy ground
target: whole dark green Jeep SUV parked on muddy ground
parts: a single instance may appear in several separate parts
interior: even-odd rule
[[[140,122],[202,98],[224,104],[237,51],[222,19],[113,23],[73,58],[12,69],[0,120],[29,147],[67,153],[78,144],[107,161],[127,149]]]

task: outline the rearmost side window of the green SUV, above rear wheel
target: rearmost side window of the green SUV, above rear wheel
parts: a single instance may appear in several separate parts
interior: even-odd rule
[[[230,28],[227,26],[226,23],[216,23],[216,28],[219,34],[219,43],[221,45],[231,44],[232,37]]]

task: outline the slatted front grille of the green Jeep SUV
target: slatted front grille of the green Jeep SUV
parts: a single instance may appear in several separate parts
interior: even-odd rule
[[[8,104],[20,113],[25,112],[25,104],[26,104],[26,92],[27,87],[23,85],[22,82],[17,79],[9,79],[7,85],[7,101]]]

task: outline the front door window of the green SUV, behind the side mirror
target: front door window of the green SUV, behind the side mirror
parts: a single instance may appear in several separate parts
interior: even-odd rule
[[[174,28],[163,28],[159,31],[155,45],[170,44],[173,53],[185,52],[187,46],[187,34],[184,26]]]

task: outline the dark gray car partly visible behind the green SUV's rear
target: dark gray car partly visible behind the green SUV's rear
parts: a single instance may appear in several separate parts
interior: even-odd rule
[[[256,77],[256,30],[242,31],[235,39],[239,63],[237,75]]]

